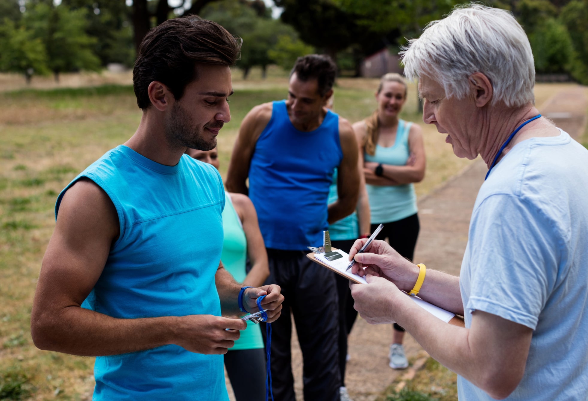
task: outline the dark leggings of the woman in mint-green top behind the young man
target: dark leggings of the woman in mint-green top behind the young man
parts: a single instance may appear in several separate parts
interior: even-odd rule
[[[265,401],[265,349],[229,349],[225,368],[237,401]]]

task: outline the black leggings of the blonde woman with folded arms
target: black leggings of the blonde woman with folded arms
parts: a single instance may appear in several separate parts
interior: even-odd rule
[[[376,231],[379,224],[372,224],[370,231]],[[419,216],[415,213],[412,216],[402,220],[384,223],[384,228],[377,234],[376,240],[385,240],[388,238],[390,247],[394,248],[400,256],[412,261],[415,255],[416,239],[419,237]],[[394,324],[398,331],[405,331],[402,326]]]

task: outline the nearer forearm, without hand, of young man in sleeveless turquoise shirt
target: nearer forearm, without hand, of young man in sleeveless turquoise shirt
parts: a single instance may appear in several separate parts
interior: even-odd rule
[[[116,355],[173,343],[181,318],[116,319],[80,306],[35,319],[35,345],[46,351],[80,356]]]

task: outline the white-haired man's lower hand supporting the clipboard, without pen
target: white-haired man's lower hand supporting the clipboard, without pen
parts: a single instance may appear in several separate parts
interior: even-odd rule
[[[353,308],[369,324],[394,323],[394,305],[397,303],[397,296],[402,296],[403,292],[392,282],[374,274],[368,274],[366,281],[368,284],[349,283],[355,300]]]

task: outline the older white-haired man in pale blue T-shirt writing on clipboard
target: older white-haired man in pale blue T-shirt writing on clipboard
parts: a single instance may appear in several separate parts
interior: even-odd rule
[[[588,151],[534,107],[533,54],[515,18],[481,5],[431,23],[403,52],[423,120],[486,161],[460,277],[385,242],[356,241],[355,308],[397,322],[459,374],[460,399],[588,399]],[[406,292],[465,316],[451,326]],[[413,290],[413,291],[411,291]]]

